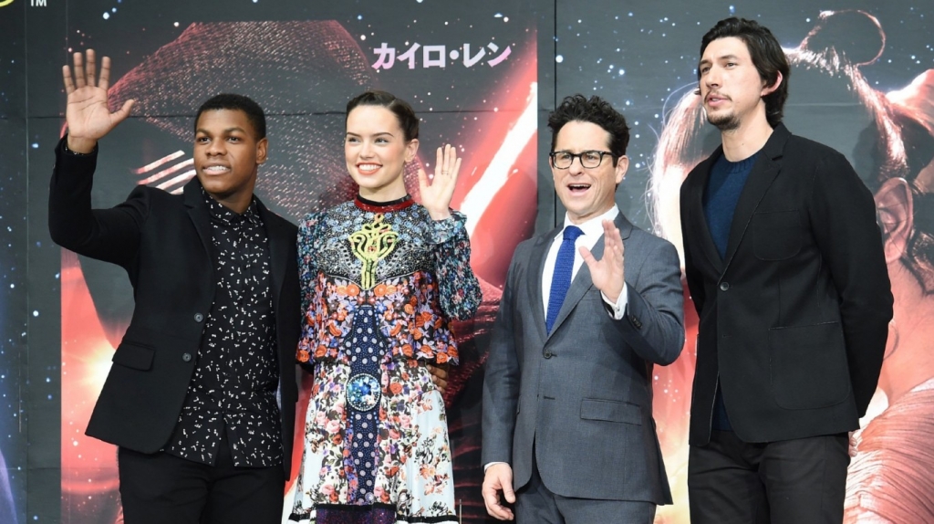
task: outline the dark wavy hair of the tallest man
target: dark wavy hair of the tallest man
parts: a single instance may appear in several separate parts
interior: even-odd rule
[[[788,78],[791,68],[785,50],[778,43],[778,39],[771,34],[769,28],[754,20],[731,17],[716,22],[716,25],[701,38],[701,57],[707,46],[714,40],[735,36],[746,45],[753,65],[756,66],[759,78],[768,86],[775,85],[778,74],[782,74],[782,83],[775,91],[762,97],[765,102],[765,116],[769,125],[775,127],[782,123],[782,112],[785,110],[785,100],[788,99]],[[698,82],[701,81],[701,68],[698,67]],[[701,94],[700,86],[696,92]]]

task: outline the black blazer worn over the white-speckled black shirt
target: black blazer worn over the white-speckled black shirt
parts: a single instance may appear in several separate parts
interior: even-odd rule
[[[64,140],[64,139],[63,139]],[[135,309],[88,423],[87,434],[142,453],[168,442],[178,421],[214,300],[210,218],[197,178],[181,195],[145,186],[110,209],[92,209],[96,151],[65,154],[60,142],[49,195],[49,230],[63,248],[126,270]],[[259,204],[269,235],[279,361],[282,446],[290,473],[301,329],[298,229]]]

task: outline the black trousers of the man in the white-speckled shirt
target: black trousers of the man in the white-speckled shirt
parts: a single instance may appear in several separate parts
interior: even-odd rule
[[[221,438],[213,466],[120,447],[120,501],[126,524],[281,522],[282,466],[234,467],[227,439]]]

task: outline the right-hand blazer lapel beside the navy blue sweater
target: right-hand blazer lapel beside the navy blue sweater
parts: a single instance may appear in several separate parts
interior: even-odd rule
[[[746,228],[749,227],[749,222],[759,202],[762,201],[762,197],[769,191],[771,183],[778,176],[781,166],[773,160],[782,156],[785,142],[790,135],[785,125],[779,124],[772,131],[765,146],[759,151],[759,158],[753,165],[749,177],[746,178],[746,185],[740,193],[740,200],[736,203],[736,210],[733,212],[733,220],[729,224],[729,241],[724,270],[729,267],[729,262],[733,259],[736,249],[739,248],[740,241],[746,233]]]

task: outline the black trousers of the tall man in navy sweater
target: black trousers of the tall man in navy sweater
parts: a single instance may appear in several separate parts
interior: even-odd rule
[[[846,433],[745,443],[712,431],[691,446],[691,524],[840,524],[850,463]]]

